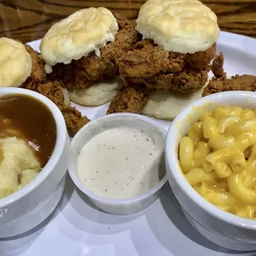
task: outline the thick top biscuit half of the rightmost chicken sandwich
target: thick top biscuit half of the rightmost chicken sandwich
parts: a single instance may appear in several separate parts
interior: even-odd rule
[[[136,23],[144,38],[182,54],[209,49],[220,34],[216,14],[198,0],[148,0]]]

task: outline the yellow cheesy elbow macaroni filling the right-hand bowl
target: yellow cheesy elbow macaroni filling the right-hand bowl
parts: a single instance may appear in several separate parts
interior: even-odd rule
[[[213,205],[256,219],[256,111],[216,107],[180,140],[187,182]]]

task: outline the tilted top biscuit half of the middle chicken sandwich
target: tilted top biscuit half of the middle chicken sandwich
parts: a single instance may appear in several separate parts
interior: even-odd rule
[[[50,27],[40,43],[40,52],[47,64],[69,64],[114,41],[118,24],[105,7],[91,7],[74,12]]]

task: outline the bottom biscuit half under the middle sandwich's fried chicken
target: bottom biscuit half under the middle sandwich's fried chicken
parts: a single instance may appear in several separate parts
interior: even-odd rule
[[[69,92],[70,100],[83,106],[100,106],[116,96],[121,88],[121,79],[93,84],[90,88],[78,89]]]

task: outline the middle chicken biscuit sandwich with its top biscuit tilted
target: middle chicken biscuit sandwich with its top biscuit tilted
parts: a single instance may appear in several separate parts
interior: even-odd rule
[[[68,88],[73,102],[99,106],[116,96],[116,60],[137,37],[134,24],[125,17],[105,7],[90,7],[55,23],[40,51],[50,79]]]

